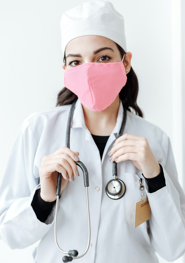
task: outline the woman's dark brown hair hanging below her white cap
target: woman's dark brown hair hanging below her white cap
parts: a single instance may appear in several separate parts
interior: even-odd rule
[[[123,55],[126,52],[118,44],[116,44],[116,46],[119,49],[121,57],[123,57]],[[66,63],[65,55],[64,55],[63,61],[64,63]],[[143,113],[141,109],[138,107],[137,102],[136,102],[137,96],[138,96],[138,90],[139,90],[138,79],[137,79],[137,76],[133,68],[131,67],[129,73],[127,73],[127,82],[124,88],[121,89],[119,93],[119,97],[122,100],[123,104],[126,106],[126,109],[128,111],[134,110],[136,115],[143,117]],[[57,106],[72,104],[73,101],[75,101],[76,99],[77,99],[77,96],[73,92],[71,92],[69,89],[64,87],[58,93]]]

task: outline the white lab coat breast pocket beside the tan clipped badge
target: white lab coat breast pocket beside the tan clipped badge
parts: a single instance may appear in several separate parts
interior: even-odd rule
[[[134,223],[136,202],[140,201],[140,181],[136,174],[125,173],[123,182],[126,185],[124,219],[128,224]]]

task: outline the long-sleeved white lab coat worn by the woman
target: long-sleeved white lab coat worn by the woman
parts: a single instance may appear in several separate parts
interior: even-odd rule
[[[61,263],[63,254],[54,241],[54,210],[45,223],[40,222],[31,206],[39,187],[42,157],[65,146],[66,123],[70,105],[31,115],[23,123],[14,144],[0,189],[0,237],[12,249],[27,247],[41,239],[35,251],[37,263]],[[105,192],[112,179],[108,152],[119,132],[123,117],[120,103],[116,126],[106,144],[102,160],[85,126],[79,100],[71,123],[70,146],[79,152],[89,173],[91,245],[80,263],[156,263],[155,251],[173,261],[185,250],[185,196],[177,181],[177,172],[169,138],[158,127],[127,112],[124,133],[147,138],[162,165],[166,186],[148,193],[142,173],[131,161],[118,164],[118,178],[126,185],[124,197],[110,199]],[[58,211],[58,243],[63,250],[83,253],[88,238],[86,196],[82,171],[62,192]],[[139,178],[145,182],[151,207],[149,222],[134,228],[135,203],[140,201]],[[95,187],[99,186],[99,191]]]

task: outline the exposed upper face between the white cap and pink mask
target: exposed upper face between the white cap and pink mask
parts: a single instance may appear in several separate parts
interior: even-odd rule
[[[120,62],[121,54],[116,44],[102,36],[81,36],[72,39],[66,46],[66,69],[88,62]]]

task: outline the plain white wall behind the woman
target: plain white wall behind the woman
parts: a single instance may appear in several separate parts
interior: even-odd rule
[[[64,74],[60,18],[64,11],[82,2],[0,1],[0,182],[25,117],[56,104]],[[112,0],[112,3],[125,18],[127,50],[133,54],[132,66],[140,84],[138,104],[145,118],[169,135],[183,185],[183,0]],[[1,262],[25,263],[26,259],[27,263],[33,263],[33,247],[12,251],[0,241]],[[166,261],[160,259],[160,262]],[[182,263],[183,259],[175,262]]]

